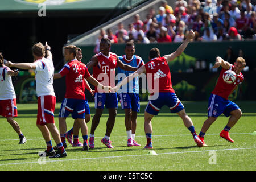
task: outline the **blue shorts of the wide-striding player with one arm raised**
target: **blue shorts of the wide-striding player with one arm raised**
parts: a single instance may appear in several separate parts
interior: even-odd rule
[[[183,104],[177,98],[175,93],[160,92],[156,100],[149,100],[146,112],[152,115],[158,115],[160,109],[167,105],[170,108],[171,113],[178,113],[184,109]]]

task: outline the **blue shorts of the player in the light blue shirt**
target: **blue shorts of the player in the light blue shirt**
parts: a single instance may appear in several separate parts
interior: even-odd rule
[[[138,93],[121,93],[119,94],[122,109],[131,109],[139,112],[139,94]]]

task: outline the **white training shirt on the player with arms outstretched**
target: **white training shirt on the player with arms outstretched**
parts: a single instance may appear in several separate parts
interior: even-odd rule
[[[52,60],[42,58],[34,62],[36,65],[36,94],[39,96],[55,96],[53,89],[54,66]]]

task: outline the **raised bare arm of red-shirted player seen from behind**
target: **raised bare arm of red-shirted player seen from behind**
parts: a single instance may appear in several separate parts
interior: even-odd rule
[[[171,53],[170,55],[165,55],[163,56],[166,61],[172,61],[174,60],[177,56],[181,55],[181,53],[183,53],[183,51],[185,50],[185,48],[188,46],[188,43],[191,41],[191,39],[193,39],[193,37],[195,36],[195,32],[193,32],[192,30],[188,32],[187,38],[184,40],[184,42],[179,46],[179,48],[177,48],[177,50],[173,53]]]

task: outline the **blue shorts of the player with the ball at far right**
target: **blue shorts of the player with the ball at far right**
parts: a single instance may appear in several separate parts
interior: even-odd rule
[[[236,109],[240,109],[238,105],[230,100],[226,100],[225,98],[210,94],[209,102],[208,102],[208,117],[218,117],[222,113],[229,117],[230,112]]]

